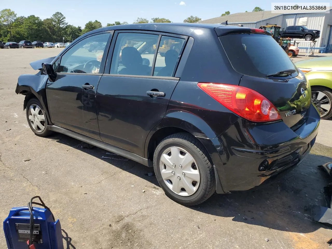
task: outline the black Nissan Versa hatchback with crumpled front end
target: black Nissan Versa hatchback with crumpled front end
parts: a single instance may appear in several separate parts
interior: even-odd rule
[[[40,71],[21,75],[16,93],[36,135],[60,132],[153,167],[183,205],[293,168],[318,131],[308,81],[264,30],[112,26],[31,66]]]

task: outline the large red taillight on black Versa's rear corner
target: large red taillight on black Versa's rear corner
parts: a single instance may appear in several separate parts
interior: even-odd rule
[[[242,86],[198,83],[198,86],[221,105],[253,122],[280,120],[277,108],[263,95]]]

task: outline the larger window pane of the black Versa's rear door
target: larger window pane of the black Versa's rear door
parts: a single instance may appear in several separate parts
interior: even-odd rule
[[[115,43],[111,74],[151,75],[158,35],[120,33]]]

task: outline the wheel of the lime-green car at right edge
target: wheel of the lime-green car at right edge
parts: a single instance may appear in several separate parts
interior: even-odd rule
[[[321,119],[332,117],[332,91],[324,87],[311,88],[311,101],[317,107]]]

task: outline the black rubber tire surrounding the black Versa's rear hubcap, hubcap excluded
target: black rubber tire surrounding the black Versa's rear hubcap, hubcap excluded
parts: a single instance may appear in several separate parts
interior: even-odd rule
[[[200,172],[200,183],[197,191],[191,196],[180,196],[174,193],[165,183],[161,176],[159,162],[162,153],[170,147],[179,147],[186,150],[197,163]],[[203,203],[215,192],[215,177],[212,164],[206,149],[199,141],[188,133],[176,133],[165,137],[157,146],[153,156],[153,168],[158,183],[166,196],[173,201],[185,205],[194,206]]]

